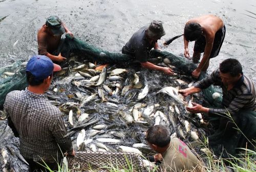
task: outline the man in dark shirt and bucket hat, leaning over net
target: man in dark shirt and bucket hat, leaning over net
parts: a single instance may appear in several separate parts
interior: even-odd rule
[[[173,70],[168,67],[160,67],[148,62],[150,50],[160,49],[157,40],[165,35],[161,21],[153,20],[150,26],[144,26],[133,34],[131,39],[123,46],[122,53],[129,54],[138,60],[143,68],[162,71],[167,75],[173,75]]]

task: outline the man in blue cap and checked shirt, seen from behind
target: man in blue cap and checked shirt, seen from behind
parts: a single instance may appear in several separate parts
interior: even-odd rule
[[[28,88],[6,96],[4,110],[15,137],[19,137],[20,154],[29,163],[29,171],[45,171],[45,163],[58,170],[62,153],[75,155],[71,138],[60,110],[44,95],[53,72],[60,66],[44,55],[34,55],[27,63]],[[42,165],[40,165],[42,164]]]

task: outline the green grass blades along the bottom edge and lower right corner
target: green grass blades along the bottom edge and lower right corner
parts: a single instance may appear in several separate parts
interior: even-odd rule
[[[232,121],[236,125],[236,129],[244,135],[244,133],[240,130],[240,128],[234,122],[233,118],[231,117],[231,115],[229,113],[226,115],[221,115],[221,116],[229,118],[229,120]],[[245,138],[246,138],[246,136],[245,136]],[[249,140],[248,140],[248,142],[251,143]],[[205,171],[207,171],[207,172],[208,171],[223,171],[224,172],[224,171],[230,171],[230,169],[232,169],[233,171],[238,171],[238,172],[254,172],[254,171],[256,171],[256,152],[254,152],[253,150],[250,150],[248,148],[240,148],[241,151],[238,156],[234,157],[232,155],[228,155],[229,158],[225,159],[225,158],[222,158],[222,156],[216,156],[210,150],[210,148],[208,146],[208,139],[206,137],[203,137],[203,140],[201,141],[201,143],[202,143],[201,150],[202,149],[204,150],[204,154],[197,155],[197,156],[201,161],[204,162]],[[255,149],[255,144],[252,144],[252,145]],[[92,167],[89,165],[89,170],[87,170],[87,171],[92,171],[92,172],[102,171],[102,170],[110,171],[110,172],[138,171],[135,168],[136,164],[132,164],[128,158],[126,158],[125,160],[127,163],[126,167],[124,167],[124,166],[120,167],[117,165],[115,166],[110,161],[109,165],[102,166],[98,169],[92,169]],[[79,170],[77,168],[76,169],[67,169],[68,167],[66,167],[66,169],[63,170],[63,164],[65,164],[65,163],[62,163],[62,168],[60,167],[60,165],[58,165],[59,172],[84,171],[84,170]],[[48,168],[48,170],[52,172],[52,170],[49,169],[47,164],[45,164],[45,167]],[[156,168],[157,167],[147,168],[146,171],[154,172],[154,171],[156,171]]]

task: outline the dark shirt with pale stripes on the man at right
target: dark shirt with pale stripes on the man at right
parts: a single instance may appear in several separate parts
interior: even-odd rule
[[[223,109],[209,109],[209,114],[230,113],[233,115],[239,110],[256,111],[256,92],[251,79],[242,75],[239,81],[231,90],[227,90],[226,85],[221,81],[219,69],[215,70],[208,77],[196,82],[193,86],[206,89],[211,84],[219,85],[222,88]]]

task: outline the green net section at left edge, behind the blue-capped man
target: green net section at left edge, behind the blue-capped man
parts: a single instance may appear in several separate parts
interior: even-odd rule
[[[6,95],[13,90],[24,90],[27,87],[25,63],[17,61],[12,65],[0,68],[0,109],[3,109]],[[6,72],[14,73],[10,76]]]

